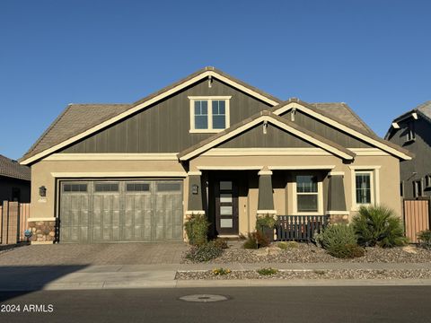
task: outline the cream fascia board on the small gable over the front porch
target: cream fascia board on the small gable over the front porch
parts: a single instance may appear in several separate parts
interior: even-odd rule
[[[339,149],[337,149],[336,147],[331,146],[330,144],[326,144],[321,142],[320,140],[312,137],[312,135],[307,135],[305,133],[303,133],[301,130],[295,129],[294,127],[289,127],[288,125],[286,125],[284,122],[278,121],[276,118],[272,118],[270,116],[260,116],[259,118],[255,118],[254,120],[251,120],[251,122],[243,125],[242,127],[238,127],[236,129],[234,129],[233,131],[225,134],[225,135],[221,135],[220,137],[216,138],[215,140],[204,144],[203,146],[197,148],[196,150],[185,154],[184,156],[180,157],[180,161],[187,161],[190,158],[193,158],[197,155],[199,155],[200,153],[204,153],[207,150],[211,149],[212,147],[215,147],[217,144],[221,144],[224,141],[232,138],[235,135],[239,135],[242,132],[244,132],[245,130],[254,127],[256,125],[259,125],[259,123],[264,122],[264,121],[268,121],[269,123],[272,123],[273,125],[277,126],[277,127],[281,127],[282,129],[286,130],[287,132],[297,135],[300,138],[303,138],[304,140],[312,143],[312,144],[316,144],[318,146],[320,146],[321,148],[323,148],[324,150],[333,153],[343,159],[346,160],[353,160],[354,158],[354,153],[353,156],[349,155],[347,153],[344,153],[342,151],[340,151]],[[241,148],[240,148],[241,149]]]

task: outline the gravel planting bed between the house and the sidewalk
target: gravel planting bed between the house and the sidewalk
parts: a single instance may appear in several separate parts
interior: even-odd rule
[[[415,246],[382,249],[366,248],[365,256],[353,259],[339,259],[330,256],[324,249],[312,243],[298,243],[297,248],[279,249],[277,243],[263,249],[242,249],[241,241],[229,242],[229,249],[224,249],[222,256],[210,264],[229,263],[431,263],[431,250]],[[191,263],[183,257],[183,263]]]

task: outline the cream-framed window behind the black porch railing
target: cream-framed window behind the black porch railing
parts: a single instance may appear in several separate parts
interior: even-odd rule
[[[296,211],[297,213],[319,212],[319,185],[316,176],[296,176]]]

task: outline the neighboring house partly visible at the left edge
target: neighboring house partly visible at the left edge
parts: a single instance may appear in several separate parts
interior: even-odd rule
[[[3,201],[30,202],[31,169],[0,155],[0,204]]]

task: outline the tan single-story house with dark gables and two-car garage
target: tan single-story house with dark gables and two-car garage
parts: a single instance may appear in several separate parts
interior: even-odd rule
[[[257,214],[400,214],[410,159],[345,103],[278,100],[207,67],[132,104],[69,105],[21,162],[39,241],[104,242],[183,240],[189,214],[218,236]]]

